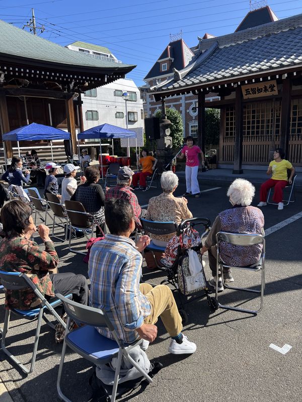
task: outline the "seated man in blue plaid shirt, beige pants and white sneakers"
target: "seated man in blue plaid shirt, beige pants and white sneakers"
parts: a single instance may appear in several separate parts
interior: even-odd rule
[[[157,337],[154,324],[161,317],[172,338],[168,351],[173,354],[194,353],[196,345],[181,332],[182,320],[171,289],[166,285],[139,284],[140,251],[150,239],[141,236],[136,245],[129,239],[135,228],[130,203],[124,199],[109,200],[105,217],[110,234],[92,246],[89,258],[91,306],[108,314],[118,337],[125,343],[139,338],[153,342]],[[112,338],[107,329],[99,328],[98,331]]]

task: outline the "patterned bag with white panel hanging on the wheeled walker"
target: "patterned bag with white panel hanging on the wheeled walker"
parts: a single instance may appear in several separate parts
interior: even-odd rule
[[[197,251],[196,254],[202,266],[200,272],[194,273],[193,275],[191,274],[189,268],[189,255],[187,251],[185,251],[185,253],[181,257],[177,267],[178,287],[181,293],[185,296],[203,290],[206,287],[206,279],[202,264],[202,255],[200,254],[200,251]]]

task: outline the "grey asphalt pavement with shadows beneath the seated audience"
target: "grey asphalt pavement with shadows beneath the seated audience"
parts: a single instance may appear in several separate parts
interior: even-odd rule
[[[226,186],[202,185],[202,195],[189,199],[188,206],[194,216],[211,220],[230,205],[226,198]],[[258,188],[257,188],[258,189]],[[185,188],[180,184],[176,195]],[[138,192],[141,205],[159,190]],[[168,354],[167,333],[159,323],[156,342],[149,346],[150,360],[160,360],[164,368],[155,376],[154,383],[143,392],[134,391],[121,400],[140,402],[161,401],[265,401],[284,402],[302,400],[301,380],[301,218],[302,193],[297,193],[296,202],[283,211],[275,206],[263,208],[266,237],[266,289],[264,310],[258,316],[218,310],[210,312],[203,298],[187,305],[189,323],[185,334],[197,344],[197,351],[189,357]],[[258,197],[255,197],[256,205]],[[291,221],[289,218],[294,217]],[[282,228],[280,223],[284,222]],[[291,223],[288,223],[291,222]],[[279,225],[279,226],[276,226]],[[281,226],[282,226],[281,225]],[[271,229],[273,228],[273,229]],[[79,240],[79,245],[81,240]],[[56,246],[61,261],[61,271],[72,270],[87,274],[87,265],[82,257],[67,252],[66,244]],[[207,262],[207,258],[206,258]],[[161,272],[147,271],[145,279],[159,282]],[[209,276],[208,265],[205,268]],[[234,272],[236,282],[248,286],[259,283],[257,274],[243,277]],[[245,294],[224,291],[223,302],[244,303]],[[251,306],[253,301],[246,303]],[[0,313],[3,322],[3,311]],[[23,325],[21,320],[12,323],[12,349],[21,354],[23,361],[29,358],[33,323]],[[42,328],[35,372],[27,377],[21,374],[0,352],[0,376],[10,390],[15,402],[55,402],[56,376],[60,357],[60,345],[55,345],[54,334],[46,325]],[[292,346],[285,355],[269,345]],[[66,359],[64,390],[72,401],[89,398],[88,377],[92,372],[80,356],[69,353]]]

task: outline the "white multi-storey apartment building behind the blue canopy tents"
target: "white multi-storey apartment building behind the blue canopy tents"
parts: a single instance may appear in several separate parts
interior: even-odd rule
[[[102,58],[112,63],[119,60],[103,46],[74,42],[68,49],[83,52],[88,57]],[[125,100],[123,94],[128,94]],[[82,95],[84,130],[107,123],[128,128],[143,127],[143,106],[140,92],[132,79],[118,79],[112,83],[86,91]]]

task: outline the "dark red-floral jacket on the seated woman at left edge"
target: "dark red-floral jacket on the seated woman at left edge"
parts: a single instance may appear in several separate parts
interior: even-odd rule
[[[0,242],[0,267],[3,271],[26,273],[43,295],[54,296],[49,269],[58,265],[59,258],[52,242],[45,243],[45,251],[37,243],[22,237],[4,238]],[[6,309],[29,310],[40,305],[31,288],[5,289]]]

